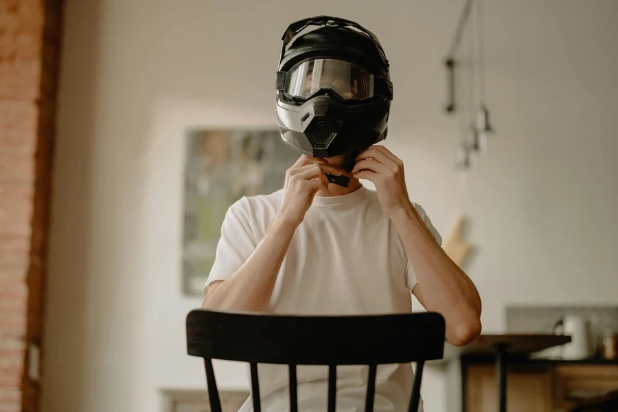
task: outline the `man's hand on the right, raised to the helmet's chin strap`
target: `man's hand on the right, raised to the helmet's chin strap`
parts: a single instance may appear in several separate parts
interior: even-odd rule
[[[384,146],[370,146],[361,152],[352,173],[356,179],[367,179],[376,185],[378,200],[388,216],[413,209],[403,162]]]

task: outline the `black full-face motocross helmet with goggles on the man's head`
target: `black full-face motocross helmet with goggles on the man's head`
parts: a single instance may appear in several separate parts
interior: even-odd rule
[[[282,40],[275,108],[282,138],[312,157],[348,155],[352,170],[358,152],[388,131],[393,84],[378,38],[353,21],[317,16],[292,23]]]

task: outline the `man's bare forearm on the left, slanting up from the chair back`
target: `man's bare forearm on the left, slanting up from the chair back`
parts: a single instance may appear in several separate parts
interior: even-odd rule
[[[268,311],[277,274],[296,227],[293,223],[275,220],[238,271],[208,290],[202,307],[215,310]]]

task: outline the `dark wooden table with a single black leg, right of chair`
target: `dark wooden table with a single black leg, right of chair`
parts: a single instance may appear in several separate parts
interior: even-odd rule
[[[571,336],[554,334],[483,334],[469,345],[455,348],[455,351],[459,356],[464,354],[496,356],[498,409],[500,412],[506,412],[507,356],[527,355],[569,342]]]

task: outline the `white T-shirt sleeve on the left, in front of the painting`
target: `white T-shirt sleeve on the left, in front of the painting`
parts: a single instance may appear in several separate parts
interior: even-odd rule
[[[253,253],[257,242],[249,216],[249,201],[246,197],[227,210],[221,225],[215,261],[204,286],[204,295],[212,282],[225,280],[233,275]]]

